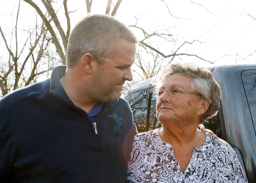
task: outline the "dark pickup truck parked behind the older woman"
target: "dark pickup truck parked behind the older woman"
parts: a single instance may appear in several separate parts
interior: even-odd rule
[[[256,64],[225,65],[209,68],[221,86],[218,115],[204,122],[217,136],[234,148],[249,183],[256,183]],[[131,105],[139,132],[159,128],[154,78],[132,86],[124,96]]]

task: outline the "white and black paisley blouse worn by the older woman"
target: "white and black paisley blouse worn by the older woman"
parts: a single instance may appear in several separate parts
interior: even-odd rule
[[[163,142],[158,131],[135,136],[127,183],[247,183],[235,151],[224,140],[206,133],[183,173],[172,144]]]

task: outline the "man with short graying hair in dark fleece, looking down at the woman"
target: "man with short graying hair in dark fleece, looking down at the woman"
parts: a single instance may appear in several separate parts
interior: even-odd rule
[[[124,183],[137,133],[119,98],[136,37],[109,15],[73,29],[66,66],[0,100],[1,183]]]

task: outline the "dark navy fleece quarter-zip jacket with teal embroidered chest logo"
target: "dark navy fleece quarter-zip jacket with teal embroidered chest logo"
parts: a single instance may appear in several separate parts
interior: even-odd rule
[[[96,134],[60,83],[65,70],[0,100],[1,183],[125,183],[137,133],[130,106],[106,102]]]

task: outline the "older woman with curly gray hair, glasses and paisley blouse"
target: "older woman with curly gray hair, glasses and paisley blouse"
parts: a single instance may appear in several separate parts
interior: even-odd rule
[[[135,136],[128,183],[247,182],[233,148],[197,128],[219,108],[220,87],[209,70],[167,65],[155,91],[162,128]]]

